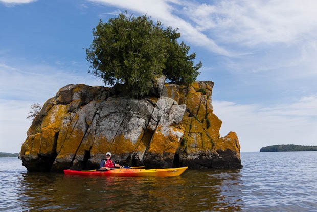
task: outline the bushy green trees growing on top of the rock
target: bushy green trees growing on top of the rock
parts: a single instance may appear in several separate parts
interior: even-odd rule
[[[93,30],[94,40],[86,49],[91,63],[89,73],[110,86],[121,83],[132,97],[146,95],[152,81],[165,74],[172,82],[191,83],[199,74],[201,62],[193,66],[195,53],[178,44],[180,34],[163,29],[146,15],[119,14],[107,23],[100,20]]]

